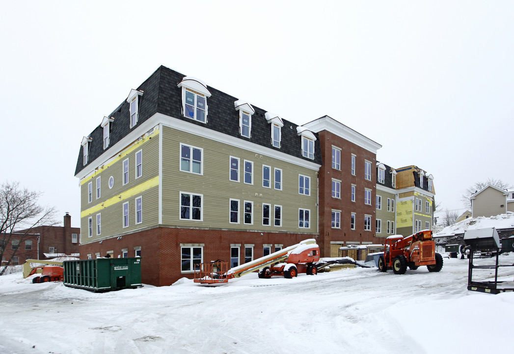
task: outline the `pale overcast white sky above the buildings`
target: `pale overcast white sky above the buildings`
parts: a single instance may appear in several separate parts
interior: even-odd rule
[[[165,65],[300,125],[329,115],[460,209],[474,182],[514,184],[513,15],[512,1],[5,1],[0,182],[80,226],[82,137]]]

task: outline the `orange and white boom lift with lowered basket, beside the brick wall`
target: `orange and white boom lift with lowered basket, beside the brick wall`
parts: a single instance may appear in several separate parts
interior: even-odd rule
[[[308,239],[231,269],[228,269],[228,262],[221,260],[198,264],[198,268],[195,268],[194,282],[223,284],[229,279],[239,278],[258,270],[260,278],[270,278],[273,275],[293,278],[298,273],[315,275],[318,269],[314,262],[319,261],[319,258],[316,240]]]

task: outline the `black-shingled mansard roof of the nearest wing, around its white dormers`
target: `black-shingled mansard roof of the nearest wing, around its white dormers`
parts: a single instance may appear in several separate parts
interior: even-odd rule
[[[315,141],[314,161],[302,156],[301,136],[297,134],[295,123],[282,119],[284,126],[282,127],[282,143],[280,148],[271,145],[271,129],[265,118],[266,110],[252,105],[255,113],[252,114],[252,134],[250,138],[242,137],[239,134],[239,112],[234,108],[236,97],[225,94],[214,87],[205,85],[211,96],[207,98],[208,117],[206,123],[201,123],[193,119],[189,119],[182,115],[182,88],[179,83],[185,79],[191,79],[186,75],[180,74],[166,66],[160,66],[155,72],[146,79],[136,91],[142,92],[139,96],[138,105],[138,122],[140,125],[148,120],[156,113],[161,113],[177,119],[187,121],[191,124],[206,127],[217,132],[221,132],[233,137],[249,140],[251,143],[267,147],[272,150],[281,151],[283,153],[302,158],[321,165],[321,149],[319,148],[319,139]],[[196,79],[197,80],[197,79]],[[198,82],[203,81],[197,80]],[[127,89],[128,91],[128,89]],[[131,91],[131,93],[134,90]],[[130,133],[130,111],[129,103],[126,97],[107,117],[114,121],[111,123],[111,133],[109,136],[109,148],[118,143],[123,137]],[[95,161],[105,150],[103,149],[103,132],[99,125],[88,136],[91,139],[88,151],[88,164]],[[316,134],[317,136],[317,134]],[[115,152],[116,153],[116,152]],[[79,151],[75,175],[77,175],[85,166],[83,165],[82,146]]]

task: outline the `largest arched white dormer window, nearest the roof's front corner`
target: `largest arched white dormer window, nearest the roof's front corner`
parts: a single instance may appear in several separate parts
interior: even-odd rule
[[[207,98],[211,93],[205,82],[186,76],[178,83],[182,87],[182,113],[185,117],[207,122]]]

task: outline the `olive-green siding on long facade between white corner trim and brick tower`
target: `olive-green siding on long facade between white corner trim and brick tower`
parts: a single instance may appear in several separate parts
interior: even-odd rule
[[[163,128],[162,222],[184,227],[317,233],[316,171],[217,141]],[[180,143],[203,149],[203,175],[180,171]],[[230,156],[240,158],[240,182],[229,180]],[[253,185],[243,183],[244,161],[253,162]],[[282,169],[283,190],[262,186],[262,166]],[[310,196],[298,192],[298,175],[310,178]],[[179,220],[180,192],[203,194],[203,221]],[[229,200],[240,200],[240,224],[229,223]],[[253,225],[243,224],[243,202],[253,202]],[[262,225],[262,204],[282,206],[282,227]],[[310,228],[298,227],[298,209],[310,209]]]

